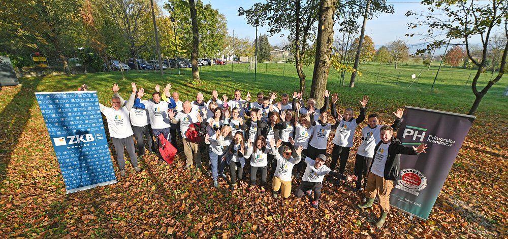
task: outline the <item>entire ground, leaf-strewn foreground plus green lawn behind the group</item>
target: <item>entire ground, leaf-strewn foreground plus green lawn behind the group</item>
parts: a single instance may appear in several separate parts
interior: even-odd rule
[[[496,238],[508,234],[508,196],[502,190],[508,178],[504,170],[508,167],[508,97],[503,96],[508,76],[484,97],[428,222],[409,221],[405,214],[392,210],[385,228],[378,230],[370,226],[375,221],[374,213],[355,208],[363,193],[351,193],[350,184],[325,186],[320,209],[314,210],[307,202],[273,200],[270,193],[260,196],[241,187],[230,192],[225,181],[220,182],[221,188],[214,189],[208,175],[183,171],[181,158],[163,167],[156,164],[154,155],[140,160],[140,174],[128,172],[128,177],[119,177],[116,184],[65,194],[34,92],[75,91],[87,84],[90,90],[98,91],[102,103],[109,105],[112,84],[119,84],[120,94],[126,97],[132,81],[148,92],[155,84],[171,83],[171,91],[178,91],[181,100],[194,100],[197,92],[203,92],[207,100],[212,90],[230,98],[235,89],[242,91],[242,98],[245,92],[299,90],[292,64],[258,64],[256,82],[254,72],[247,67],[201,67],[205,84],[199,87],[187,84],[192,77],[188,68],[182,69],[181,75],[178,70],[167,70],[164,76],[132,70],[126,72],[124,82],[119,72],[103,72],[21,78],[20,86],[4,87],[0,93],[0,237],[241,238],[308,237],[314,233],[330,238],[402,234]],[[312,68],[305,67],[306,96]],[[437,66],[427,71],[423,65],[395,69],[393,65],[367,63],[360,67],[363,76],[357,78],[355,88],[339,86],[338,73],[331,70],[328,89],[339,94],[340,109],[358,108],[362,96],[369,95],[367,113],[380,113],[382,123],[392,122],[391,112],[404,105],[467,113],[474,96],[470,84],[464,85],[473,71],[443,67],[431,90],[436,70]],[[412,85],[411,74],[420,74]],[[482,74],[479,85],[484,86],[491,76]],[[347,85],[349,77],[346,74]],[[353,152],[360,142],[359,130],[356,134]],[[353,158],[351,153],[346,173],[353,172]],[[119,175],[116,160],[113,165]],[[127,168],[132,170],[129,163]],[[293,187],[298,184],[294,182]],[[377,206],[374,211],[379,213]]]

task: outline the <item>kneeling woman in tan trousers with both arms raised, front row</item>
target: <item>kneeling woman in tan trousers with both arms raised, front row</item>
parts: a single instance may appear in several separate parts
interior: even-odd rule
[[[275,144],[273,140],[272,144]],[[273,198],[277,198],[279,189],[282,190],[282,196],[284,198],[288,198],[291,195],[291,173],[293,172],[293,167],[298,164],[302,159],[302,150],[303,146],[298,146],[295,148],[296,157],[293,157],[293,151],[288,146],[282,147],[282,155],[279,154],[278,148],[282,145],[282,141],[279,139],[275,147],[272,147],[272,153],[275,156],[275,160],[277,161],[277,169],[273,174],[272,180],[272,196]]]

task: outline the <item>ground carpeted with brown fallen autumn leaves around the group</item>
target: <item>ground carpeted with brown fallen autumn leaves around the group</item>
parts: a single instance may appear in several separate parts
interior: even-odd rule
[[[220,180],[220,188],[215,189],[206,171],[184,171],[181,159],[173,165],[161,165],[155,155],[140,160],[142,173],[134,173],[128,164],[128,176],[123,178],[112,159],[118,176],[116,184],[66,194],[34,97],[37,91],[74,90],[79,85],[77,81],[58,81],[21,79],[21,86],[4,87],[0,92],[2,238],[499,238],[508,234],[506,110],[479,111],[427,222],[409,220],[392,209],[380,230],[372,226],[379,207],[356,209],[364,194],[351,192],[351,184],[325,184],[320,208],[314,209],[306,199],[272,198],[269,186],[265,194],[259,190],[249,192],[245,181],[230,191],[227,181]],[[128,84],[124,85],[126,88]],[[109,92],[101,97],[106,95]],[[396,104],[388,104],[392,103]],[[388,123],[388,110],[392,108],[379,105],[372,110],[386,111],[382,119]],[[359,138],[357,135],[352,152]],[[353,166],[351,153],[346,172],[353,172]],[[298,183],[293,181],[293,190],[296,186]]]

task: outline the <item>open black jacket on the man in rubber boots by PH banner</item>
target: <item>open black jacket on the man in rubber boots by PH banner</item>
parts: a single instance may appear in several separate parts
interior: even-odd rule
[[[376,147],[374,148],[374,152],[376,152],[375,154],[377,154],[377,149],[382,143],[383,141],[379,141],[379,143],[377,143]],[[375,154],[372,163],[370,164],[369,172],[372,168],[372,165],[374,164],[376,157]],[[402,175],[400,174],[400,154],[418,155],[419,153],[415,152],[412,147],[404,146],[400,140],[392,137],[392,143],[390,146],[388,146],[388,157],[385,164],[385,180],[400,180],[402,178]]]

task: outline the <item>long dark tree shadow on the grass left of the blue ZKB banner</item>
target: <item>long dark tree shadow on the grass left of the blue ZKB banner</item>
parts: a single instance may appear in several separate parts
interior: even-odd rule
[[[21,79],[20,91],[0,112],[0,187],[7,177],[7,168],[12,160],[12,153],[18,145],[21,134],[30,120],[30,109],[37,103],[35,92],[41,83],[41,78]]]

